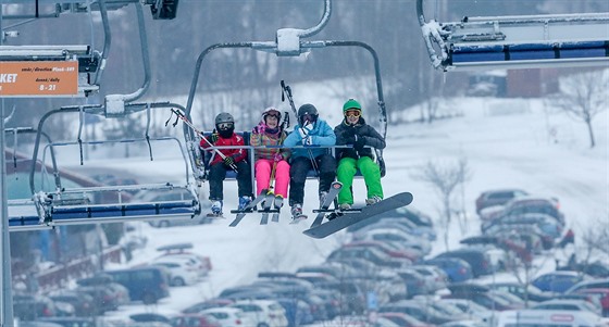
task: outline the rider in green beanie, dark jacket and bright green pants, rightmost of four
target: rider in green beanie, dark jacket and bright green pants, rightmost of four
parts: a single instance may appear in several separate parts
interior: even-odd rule
[[[368,189],[365,204],[370,205],[383,200],[381,168],[374,162],[372,148],[385,149],[385,140],[374,127],[365,123],[361,112],[360,103],[349,99],[343,105],[345,118],[334,127],[336,144],[352,146],[352,148],[336,149],[336,160],[338,161],[336,179],[343,183],[343,189],[338,193],[338,205],[343,210],[350,209],[353,204],[351,186],[358,169],[361,172]]]

